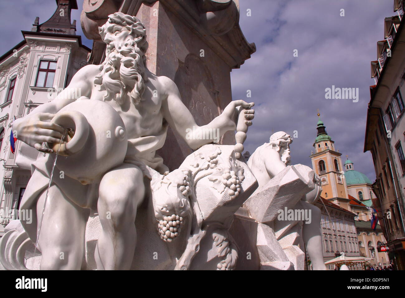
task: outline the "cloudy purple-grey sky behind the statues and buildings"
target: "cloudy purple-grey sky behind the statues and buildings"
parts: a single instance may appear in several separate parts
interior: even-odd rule
[[[80,12],[73,11],[77,34]],[[363,153],[367,103],[370,100],[370,61],[376,60],[377,41],[384,38],[384,17],[394,15],[393,0],[240,0],[240,25],[252,58],[232,71],[233,99],[246,99],[252,90],[256,103],[254,126],[245,148],[251,153],[269,140],[272,131],[298,138],[292,143],[292,163],[311,166],[309,155],[316,137],[317,109],[335,147],[354,161],[355,169],[375,180],[370,152]],[[21,30],[30,30],[55,11],[53,0],[0,2],[0,54],[19,43]],[[247,16],[247,9],[251,16]],[[340,16],[344,9],[344,16]],[[5,42],[4,42],[5,41]],[[298,57],[293,56],[294,49]],[[325,88],[358,88],[358,102],[325,99]],[[250,99],[248,99],[250,101]]]

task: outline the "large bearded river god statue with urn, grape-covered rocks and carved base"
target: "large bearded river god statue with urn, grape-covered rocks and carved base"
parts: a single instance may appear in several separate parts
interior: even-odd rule
[[[258,187],[241,157],[254,103],[232,101],[197,126],[175,83],[146,68],[145,26],[136,17],[109,15],[99,33],[104,62],[83,67],[56,99],[14,122],[18,139],[40,151],[20,205],[36,217],[6,227],[0,268],[237,268],[230,229]],[[72,97],[72,88],[83,96]],[[172,172],[156,154],[168,126],[196,150]],[[235,130],[237,144],[215,144]],[[272,181],[300,197],[315,189],[306,169],[292,172],[301,174]]]

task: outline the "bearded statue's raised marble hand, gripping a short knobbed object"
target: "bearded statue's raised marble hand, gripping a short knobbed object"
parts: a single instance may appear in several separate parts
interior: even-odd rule
[[[254,103],[247,103],[246,101],[243,101],[241,99],[237,101],[231,101],[222,112],[224,121],[226,122],[224,123],[226,128],[228,128],[228,130],[230,131],[237,129],[239,115],[238,111],[240,111],[240,109],[244,110],[244,123],[246,124],[246,126],[251,126],[252,120],[254,118],[254,109],[250,108],[253,106]],[[237,109],[237,107],[240,108]]]

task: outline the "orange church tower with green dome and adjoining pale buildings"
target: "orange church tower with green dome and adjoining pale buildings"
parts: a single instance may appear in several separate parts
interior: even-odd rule
[[[326,132],[319,113],[318,118],[315,152],[311,152],[310,157],[322,185],[321,199],[316,205],[322,211],[324,260],[344,252],[350,257],[372,258],[366,266],[388,266],[388,254],[378,252],[386,243],[381,226],[371,228],[372,202],[376,197],[371,181],[354,170],[354,163],[349,159],[342,166],[341,153],[335,149],[335,142]],[[330,265],[329,269],[333,267]],[[353,269],[359,268],[363,267]]]

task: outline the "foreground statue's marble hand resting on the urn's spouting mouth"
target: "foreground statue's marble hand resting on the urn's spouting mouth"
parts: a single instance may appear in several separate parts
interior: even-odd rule
[[[40,152],[53,152],[52,149],[42,146],[44,142],[60,143],[64,129],[58,124],[47,122],[55,116],[50,113],[34,113],[19,118],[13,123],[13,131],[17,139],[23,141]],[[64,143],[64,141],[62,142]]]

